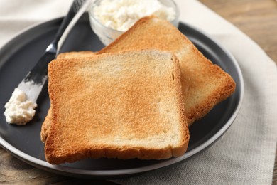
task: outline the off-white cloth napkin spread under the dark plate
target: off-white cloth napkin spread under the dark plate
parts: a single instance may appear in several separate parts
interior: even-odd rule
[[[0,0],[0,47],[29,26],[66,14],[68,0]],[[271,184],[277,141],[276,64],[244,33],[199,1],[176,0],[180,21],[215,38],[237,59],[244,100],[234,124],[210,149],[188,162],[120,184]]]

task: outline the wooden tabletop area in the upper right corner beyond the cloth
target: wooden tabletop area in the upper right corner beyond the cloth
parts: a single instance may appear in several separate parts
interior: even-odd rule
[[[246,33],[277,63],[276,0],[200,0]]]

